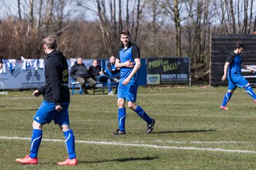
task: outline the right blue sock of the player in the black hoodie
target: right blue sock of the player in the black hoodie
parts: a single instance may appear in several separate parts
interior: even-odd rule
[[[75,155],[75,136],[73,134],[73,130],[67,130],[63,132],[63,135],[65,136],[65,145],[68,150],[68,159],[74,159],[76,157]]]

